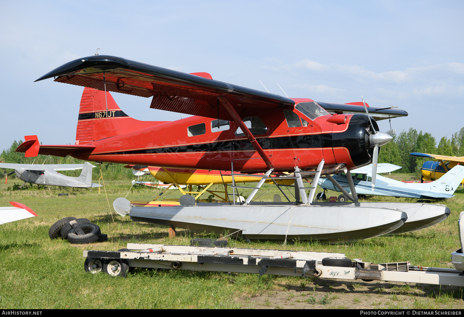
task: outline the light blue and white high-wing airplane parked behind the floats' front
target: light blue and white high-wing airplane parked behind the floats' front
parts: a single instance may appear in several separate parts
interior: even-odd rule
[[[380,163],[377,166],[378,173],[387,173],[400,169],[401,166]],[[337,173],[333,178],[346,191],[351,193],[349,188],[347,174],[344,172]],[[354,183],[354,190],[357,195],[378,195],[392,197],[408,197],[419,199],[444,199],[453,197],[454,191],[464,178],[464,166],[456,165],[445,175],[434,182],[430,183],[403,183],[391,178],[376,175],[375,188],[372,188],[372,166],[367,165],[351,171],[351,178]],[[335,190],[340,192],[328,178],[320,178],[318,184],[324,190]],[[319,193],[317,199],[325,195]],[[339,201],[345,201],[347,198],[339,196]]]

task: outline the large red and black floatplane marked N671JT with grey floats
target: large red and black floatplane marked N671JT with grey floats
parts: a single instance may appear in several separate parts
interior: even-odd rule
[[[183,195],[180,205],[166,206],[117,198],[113,206],[122,216],[190,230],[228,231],[251,240],[337,243],[398,231],[411,212],[423,216],[407,231],[449,215],[444,205],[360,203],[353,184],[353,196],[347,193],[353,203],[313,203],[321,175],[349,174],[370,163],[375,175],[379,147],[392,140],[394,132],[380,132],[375,120],[406,116],[406,111],[367,111],[364,101],[342,105],[287,98],[213,80],[207,73],[186,74],[113,56],[77,59],[37,81],[51,77],[85,87],[76,144],[40,145],[36,136],[28,136],[16,150],[26,152],[26,157],[71,155],[94,162],[232,175],[264,172],[245,203],[195,203],[192,196]],[[172,122],[135,120],[116,105],[109,91],[152,97],[150,108],[193,116]],[[296,203],[252,202],[271,174],[294,179]],[[312,178],[313,187],[304,187],[303,178]]]

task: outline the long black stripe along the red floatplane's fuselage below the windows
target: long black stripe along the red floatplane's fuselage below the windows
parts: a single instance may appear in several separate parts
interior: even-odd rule
[[[257,139],[265,150],[311,149],[332,147],[332,133],[294,135],[275,138]],[[249,140],[227,140],[212,143],[190,144],[187,146],[169,146],[142,150],[95,153],[91,155],[131,155],[162,154],[185,152],[222,152],[222,151],[255,151]]]

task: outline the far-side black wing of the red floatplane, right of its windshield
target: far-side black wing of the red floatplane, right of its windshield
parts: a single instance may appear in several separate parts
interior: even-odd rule
[[[339,104],[339,103],[327,103],[317,102],[319,106],[327,110],[330,114],[365,114],[363,106],[350,105],[350,104]],[[406,117],[408,114],[406,111],[396,108],[374,108],[368,107],[367,111],[369,115],[375,120],[384,120],[396,117]]]

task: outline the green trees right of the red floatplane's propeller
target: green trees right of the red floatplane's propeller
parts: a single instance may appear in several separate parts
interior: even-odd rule
[[[412,152],[430,153],[446,156],[464,156],[464,127],[453,133],[451,138],[443,137],[437,142],[432,134],[417,132],[410,128],[399,135],[393,134],[393,140],[380,147],[379,163],[390,163],[402,166],[399,172],[418,172],[424,158],[409,155]],[[428,161],[429,159],[425,159]]]

